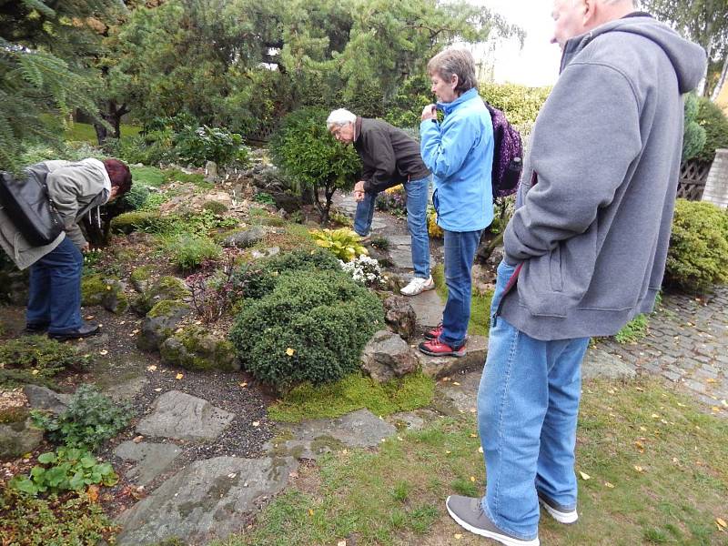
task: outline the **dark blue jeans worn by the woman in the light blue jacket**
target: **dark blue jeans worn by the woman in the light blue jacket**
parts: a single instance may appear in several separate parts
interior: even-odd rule
[[[480,230],[442,231],[445,234],[445,284],[448,286],[448,301],[442,311],[440,341],[453,349],[460,349],[468,334],[472,261],[480,242]]]

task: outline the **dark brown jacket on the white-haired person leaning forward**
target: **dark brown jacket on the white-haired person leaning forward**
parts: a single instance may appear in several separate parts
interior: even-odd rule
[[[354,149],[361,157],[360,179],[367,193],[430,176],[420,144],[401,129],[380,119],[357,117],[355,131]]]

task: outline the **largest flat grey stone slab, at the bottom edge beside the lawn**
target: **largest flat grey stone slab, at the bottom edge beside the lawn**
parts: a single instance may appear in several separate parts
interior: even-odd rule
[[[117,518],[120,546],[167,538],[207,544],[240,531],[262,501],[282,490],[298,463],[287,459],[198,460]]]

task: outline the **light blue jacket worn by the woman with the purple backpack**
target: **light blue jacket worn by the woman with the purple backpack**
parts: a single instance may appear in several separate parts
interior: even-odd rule
[[[435,179],[432,203],[438,225],[448,231],[477,231],[493,220],[490,169],[493,126],[478,91],[438,103],[445,118],[420,123],[422,160]]]

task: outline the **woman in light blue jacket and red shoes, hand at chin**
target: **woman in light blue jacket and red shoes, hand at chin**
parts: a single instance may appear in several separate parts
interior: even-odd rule
[[[433,356],[461,357],[470,321],[472,262],[480,233],[493,219],[493,127],[478,95],[470,52],[443,51],[427,67],[438,103],[422,110],[420,152],[435,180],[432,203],[445,234],[448,301],[442,323],[425,334],[427,340],[420,343],[420,350]],[[441,123],[438,110],[444,114]]]

